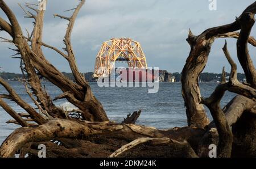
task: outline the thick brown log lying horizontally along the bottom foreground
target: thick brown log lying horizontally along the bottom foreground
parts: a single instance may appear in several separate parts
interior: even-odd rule
[[[59,152],[56,153],[57,157],[61,156],[60,152],[63,152],[64,157],[72,157],[72,155],[75,154],[77,154],[75,157],[108,157],[123,145],[141,137],[147,137],[150,138],[150,140],[169,139],[170,141],[164,144],[158,142],[161,143],[160,145],[154,145],[154,143],[151,145],[143,144],[134,148],[143,149],[143,146],[150,146],[149,150],[154,149],[155,153],[159,153],[156,151],[159,147],[165,147],[165,149],[170,151],[172,149],[177,149],[177,145],[179,145],[179,150],[187,151],[181,152],[180,156],[181,154],[185,154],[185,157],[196,157],[196,153],[191,148],[190,143],[191,145],[196,146],[195,142],[200,139],[203,133],[204,130],[202,129],[192,129],[188,127],[158,130],[142,125],[117,124],[110,121],[78,122],[67,119],[52,119],[46,124],[36,128],[24,127],[16,129],[2,143],[0,147],[0,157],[14,157],[16,153],[19,153],[19,150],[23,147],[27,147],[29,143],[31,143],[31,145],[46,143],[46,146],[48,146],[47,153],[49,153],[49,157],[55,157],[52,155],[54,152]],[[52,140],[59,141],[60,145],[49,142]],[[98,153],[94,153],[94,151],[89,152],[89,150],[85,148],[88,146],[93,146],[96,151],[98,149]],[[79,147],[80,150],[77,149],[77,147]],[[106,147],[110,147],[110,149],[106,149]],[[176,154],[168,153],[168,151],[163,151],[162,153],[165,153],[166,157],[175,157]],[[131,152],[133,152],[133,149],[130,149],[121,155],[126,154],[129,156],[129,154],[131,155]],[[27,150],[27,153],[35,155],[35,146],[34,150],[30,147],[30,149]],[[140,153],[141,155],[145,155],[146,152],[141,151],[136,154],[139,156]],[[148,153],[148,157],[150,155],[152,154]]]

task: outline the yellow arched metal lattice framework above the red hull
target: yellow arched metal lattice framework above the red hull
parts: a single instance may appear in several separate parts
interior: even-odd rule
[[[108,76],[115,61],[127,61],[129,67],[147,69],[141,44],[129,38],[113,38],[102,44],[96,57],[93,77]]]

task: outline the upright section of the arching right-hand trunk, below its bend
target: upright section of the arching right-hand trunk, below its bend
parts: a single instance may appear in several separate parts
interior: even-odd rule
[[[200,104],[201,93],[198,80],[207,63],[213,39],[209,41],[204,39],[205,37],[197,38],[189,30],[187,41],[191,45],[191,52],[181,73],[182,95],[186,107],[188,126],[198,128],[204,128],[209,124],[204,107]]]

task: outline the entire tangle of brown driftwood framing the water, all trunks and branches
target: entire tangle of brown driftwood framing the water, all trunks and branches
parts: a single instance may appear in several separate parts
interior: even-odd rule
[[[34,19],[34,30],[24,36],[13,11],[0,0],[0,7],[8,18],[0,18],[0,28],[11,37],[2,39],[16,47],[13,50],[19,55],[20,68],[24,76],[27,76],[24,82],[27,94],[38,108],[36,110],[34,106],[24,102],[0,78],[0,83],[8,92],[0,95],[0,105],[13,117],[14,120],[9,122],[22,126],[2,143],[0,157],[14,157],[15,154],[19,154],[19,157],[26,154],[37,157],[38,145],[42,143],[47,146],[47,157],[207,157],[208,146],[212,143],[218,145],[218,157],[255,157],[256,77],[247,44],[256,46],[256,41],[250,37],[256,2],[247,7],[231,24],[207,29],[199,36],[189,31],[187,41],[191,45],[191,52],[182,72],[188,126],[168,130],[135,125],[140,111],[127,116],[121,124],[108,120],[101,103],[94,97],[88,82],[77,69],[71,44],[72,28],[84,3],[85,0],[79,2],[71,17],[54,15],[68,22],[64,36],[65,48],[61,51],[42,41],[43,9],[34,9],[34,5],[27,4],[26,7],[33,11],[31,12],[22,7],[26,17]],[[235,32],[238,30],[240,33]],[[237,80],[237,66],[225,44],[224,54],[232,67],[229,82],[222,78],[209,98],[201,98],[198,77],[207,64],[214,39],[225,37],[237,39],[237,56],[245,71],[247,83]],[[68,61],[75,82],[69,81],[46,60],[42,47],[55,50]],[[48,79],[63,94],[52,99],[39,77]],[[225,91],[238,95],[221,108],[220,101]],[[4,99],[17,103],[26,113],[15,112]],[[67,112],[54,104],[57,99],[67,99],[77,109]],[[213,117],[210,123],[203,104],[209,108]]]

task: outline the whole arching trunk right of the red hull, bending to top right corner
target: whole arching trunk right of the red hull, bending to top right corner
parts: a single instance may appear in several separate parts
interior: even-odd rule
[[[254,6],[255,3],[247,7],[246,10],[243,11],[241,16],[237,18],[235,22],[220,27],[209,28],[205,30],[203,33],[201,33],[199,36],[193,35],[192,32],[189,30],[187,41],[189,45],[191,45],[191,51],[189,53],[181,76],[182,94],[185,102],[189,126],[204,128],[209,124],[209,120],[207,119],[207,116],[205,114],[204,107],[200,104],[201,94],[198,81],[199,75],[201,71],[204,70],[204,67],[207,63],[208,55],[214,38],[237,37],[235,35],[236,33],[230,32],[234,32],[241,29],[242,23],[240,22],[240,20],[243,17],[246,17],[245,15],[247,15],[247,12],[251,12],[250,15],[255,14]],[[247,34],[248,37],[249,35],[250,33]],[[246,35],[243,34],[239,37],[241,36],[246,37]],[[254,43],[254,40],[251,39],[250,42]],[[251,67],[250,60],[247,62],[247,64],[249,64],[248,66]]]

